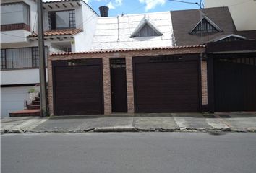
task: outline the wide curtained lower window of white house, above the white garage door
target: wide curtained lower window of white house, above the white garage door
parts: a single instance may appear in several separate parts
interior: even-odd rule
[[[46,59],[48,48],[45,48]],[[46,63],[47,64],[47,63]],[[38,68],[38,47],[1,49],[1,69]]]

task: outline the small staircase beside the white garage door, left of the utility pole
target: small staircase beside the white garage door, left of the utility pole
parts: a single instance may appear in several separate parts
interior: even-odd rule
[[[40,95],[35,97],[27,109],[9,113],[10,117],[40,117]]]

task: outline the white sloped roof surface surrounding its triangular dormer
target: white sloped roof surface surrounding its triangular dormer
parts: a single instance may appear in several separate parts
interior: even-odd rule
[[[161,36],[131,37],[140,22],[148,15]],[[172,46],[172,25],[170,12],[128,14],[119,17],[99,17],[91,50],[124,48],[153,48]]]

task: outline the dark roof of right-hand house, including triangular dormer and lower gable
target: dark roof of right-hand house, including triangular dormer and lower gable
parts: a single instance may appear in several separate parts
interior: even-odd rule
[[[237,31],[228,7],[202,9],[203,44],[256,39],[256,30]],[[201,43],[200,10],[171,11],[176,45]]]

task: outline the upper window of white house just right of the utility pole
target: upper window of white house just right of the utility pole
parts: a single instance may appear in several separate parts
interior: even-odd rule
[[[63,28],[75,28],[74,9],[68,11],[49,12],[51,30]]]

